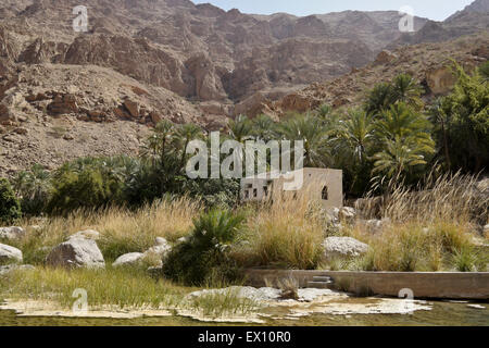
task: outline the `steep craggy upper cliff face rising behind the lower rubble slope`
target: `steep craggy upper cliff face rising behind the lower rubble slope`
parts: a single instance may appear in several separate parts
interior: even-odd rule
[[[77,34],[78,2],[3,1],[2,28],[16,51],[0,67],[92,64],[184,98],[231,103],[362,66],[399,34],[397,13],[256,16],[186,0],[88,0],[88,33]]]

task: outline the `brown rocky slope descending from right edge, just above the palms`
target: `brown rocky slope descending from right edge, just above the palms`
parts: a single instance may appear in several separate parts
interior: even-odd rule
[[[394,51],[381,51],[377,59],[349,74],[312,84],[278,100],[263,99],[254,105],[258,113],[281,117],[287,112],[306,112],[322,104],[335,109],[360,105],[375,84],[390,82],[408,73],[424,88],[423,98],[431,101],[451,91],[455,80],[450,70],[455,60],[466,71],[473,71],[489,60],[489,33],[443,42],[403,46]]]

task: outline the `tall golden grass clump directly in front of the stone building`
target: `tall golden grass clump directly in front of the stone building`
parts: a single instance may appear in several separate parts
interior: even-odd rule
[[[241,263],[253,266],[315,269],[321,261],[324,227],[322,209],[306,191],[275,197],[254,207],[247,222]]]

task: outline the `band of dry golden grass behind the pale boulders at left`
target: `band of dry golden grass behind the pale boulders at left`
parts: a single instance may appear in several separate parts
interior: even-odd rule
[[[174,241],[187,235],[192,220],[199,216],[201,202],[187,197],[163,200],[136,211],[108,208],[99,211],[76,211],[68,216],[52,216],[42,221],[27,220],[26,237],[11,243],[24,253],[24,261],[41,264],[55,245],[83,229],[96,229],[98,245],[108,261],[127,252],[142,252],[154,245],[155,237]],[[40,224],[39,228],[32,225]]]

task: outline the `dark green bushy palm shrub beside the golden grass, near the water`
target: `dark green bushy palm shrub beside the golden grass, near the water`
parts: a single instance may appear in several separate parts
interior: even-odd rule
[[[235,278],[238,272],[228,251],[243,220],[240,214],[222,210],[202,214],[193,222],[189,239],[177,245],[164,260],[163,274],[187,285],[204,284],[216,269],[223,278]]]

